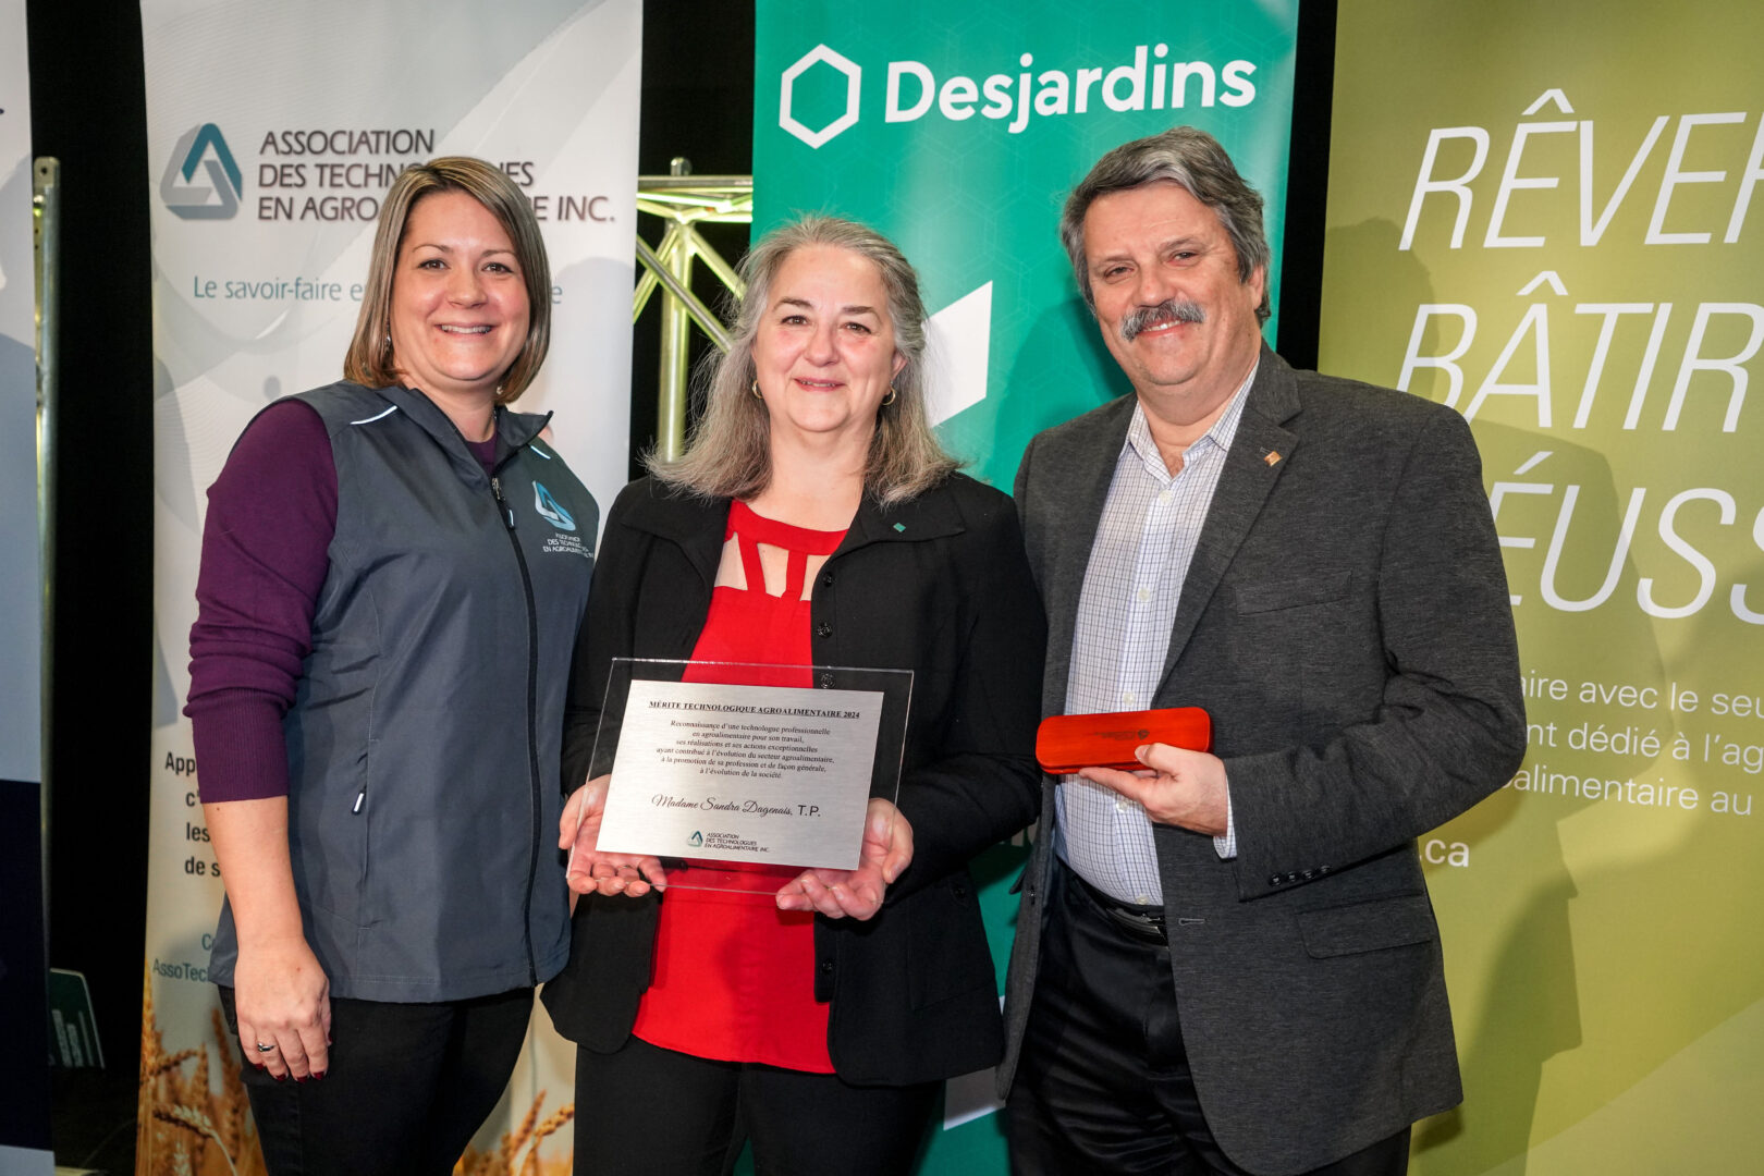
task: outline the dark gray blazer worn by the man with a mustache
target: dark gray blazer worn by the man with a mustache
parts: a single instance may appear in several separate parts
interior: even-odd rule
[[[1415,839],[1524,755],[1506,577],[1464,420],[1263,349],[1154,705],[1214,719],[1237,859],[1154,827],[1194,1084],[1237,1164],[1319,1167],[1461,1097]],[[1037,435],[1016,502],[1065,709],[1090,541],[1132,414]],[[1007,1091],[1053,873],[1053,788],[1005,986]]]

